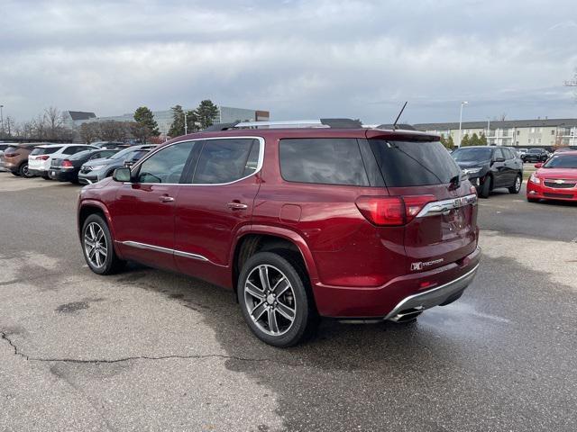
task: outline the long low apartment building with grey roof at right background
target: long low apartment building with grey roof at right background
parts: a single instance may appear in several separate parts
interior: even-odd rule
[[[459,123],[420,123],[415,129],[434,132],[458,145]],[[484,134],[493,146],[553,147],[577,146],[577,119],[536,119],[505,121],[463,121],[461,137]]]

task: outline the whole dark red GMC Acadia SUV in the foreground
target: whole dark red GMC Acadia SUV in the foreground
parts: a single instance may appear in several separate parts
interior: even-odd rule
[[[92,271],[133,260],[222,285],[276,347],[319,317],[414,320],[472,282],[477,195],[438,136],[344,119],[209,129],[82,189]]]

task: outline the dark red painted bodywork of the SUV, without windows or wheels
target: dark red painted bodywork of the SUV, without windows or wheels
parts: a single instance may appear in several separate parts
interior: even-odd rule
[[[229,289],[235,288],[234,254],[244,236],[284,238],[303,258],[317,311],[330,317],[384,317],[409,295],[449,283],[478,265],[476,205],[398,226],[375,226],[357,205],[360,197],[458,199],[472,193],[467,180],[456,189],[449,184],[387,188],[287,182],[280,174],[279,139],[438,140],[437,136],[398,130],[225,130],[179,137],[167,145],[225,137],[264,139],[261,171],[219,185],[123,184],[108,178],[82,190],[79,219],[87,205],[96,203],[105,211],[119,257]],[[174,201],[162,202],[164,196]],[[246,208],[231,208],[234,203]],[[206,260],[130,247],[124,241]]]

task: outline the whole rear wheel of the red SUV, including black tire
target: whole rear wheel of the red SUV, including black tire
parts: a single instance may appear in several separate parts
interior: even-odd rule
[[[262,268],[267,284],[262,283]],[[247,292],[247,282],[254,283],[249,290],[258,296]],[[275,287],[278,297],[272,290]],[[239,276],[237,293],[244,320],[252,333],[273,347],[295,346],[316,329],[318,314],[306,270],[289,252],[260,252],[250,257]],[[256,317],[259,313],[260,318]],[[292,321],[285,318],[287,315]]]

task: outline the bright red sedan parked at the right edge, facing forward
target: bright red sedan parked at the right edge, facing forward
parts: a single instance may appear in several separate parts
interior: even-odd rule
[[[577,151],[555,153],[545,164],[536,164],[527,182],[527,201],[577,202]]]

